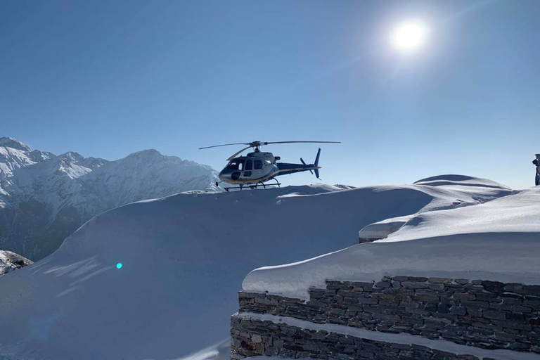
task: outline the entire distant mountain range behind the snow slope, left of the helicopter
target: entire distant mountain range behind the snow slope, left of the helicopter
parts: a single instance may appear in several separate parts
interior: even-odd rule
[[[108,161],[31,150],[0,137],[0,250],[37,261],[96,214],[184,191],[215,191],[216,179],[212,167],[157,150]]]

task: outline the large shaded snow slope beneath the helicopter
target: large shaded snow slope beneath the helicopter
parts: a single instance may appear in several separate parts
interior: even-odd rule
[[[0,278],[0,288],[9,290],[0,297],[0,354],[26,360],[212,354],[212,345],[229,337],[236,291],[252,269],[346,248],[375,221],[510,193],[468,184],[298,186],[183,193],[119,207],[88,221],[53,255]]]

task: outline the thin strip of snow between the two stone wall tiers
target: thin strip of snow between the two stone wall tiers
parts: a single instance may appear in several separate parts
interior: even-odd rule
[[[297,328],[307,330],[325,330],[332,333],[338,333],[342,335],[354,336],[356,338],[364,338],[368,340],[393,342],[395,344],[404,345],[420,345],[427,346],[431,349],[437,349],[443,352],[451,352],[453,354],[467,354],[477,356],[480,359],[506,359],[506,360],[540,360],[540,354],[525,353],[525,352],[512,352],[509,350],[487,350],[480,349],[478,347],[471,347],[466,345],[458,345],[454,342],[446,340],[430,340],[419,335],[410,335],[405,333],[391,334],[381,333],[379,331],[366,330],[361,328],[352,328],[350,326],[343,326],[333,323],[311,323],[300,319],[294,319],[290,317],[274,316],[270,314],[255,314],[255,313],[239,313],[234,316],[240,319],[257,319],[261,321],[272,321],[273,323],[286,324],[289,326],[295,326]],[[262,357],[262,356],[261,356]],[[264,359],[264,358],[263,358]]]

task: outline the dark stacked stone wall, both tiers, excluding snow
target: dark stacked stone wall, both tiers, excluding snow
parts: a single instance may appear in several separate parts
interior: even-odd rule
[[[245,292],[240,292],[239,301],[240,313],[288,316],[312,323],[409,333],[483,349],[540,354],[540,285],[394,276],[377,283],[327,281],[325,289],[309,290],[308,301]],[[260,354],[323,359],[476,359],[311,330],[296,329],[295,336],[290,336],[281,325],[255,319],[233,317],[231,326],[233,359]],[[321,348],[321,344],[325,346]]]

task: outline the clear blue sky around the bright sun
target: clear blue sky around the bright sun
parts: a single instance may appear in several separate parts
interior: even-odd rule
[[[430,34],[416,52],[389,38]],[[534,185],[540,2],[0,2],[0,136],[114,160],[146,148],[216,169],[220,143],[322,146],[328,184],[437,174]],[[286,162],[318,146],[267,147]],[[311,184],[309,173],[283,176]]]

